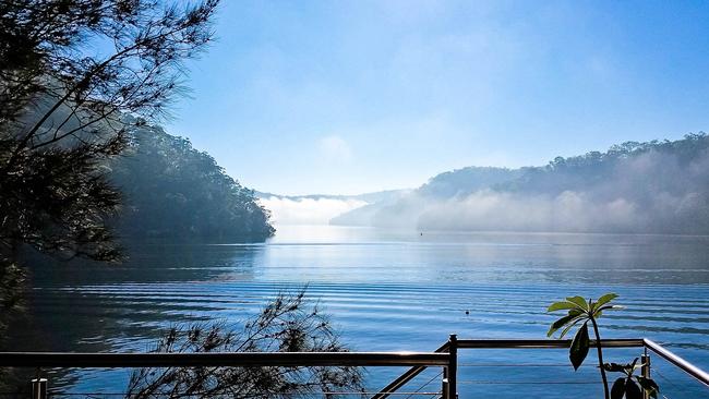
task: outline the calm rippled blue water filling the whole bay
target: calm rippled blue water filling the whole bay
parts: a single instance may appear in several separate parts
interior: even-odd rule
[[[709,368],[709,238],[611,234],[435,233],[281,227],[265,244],[132,244],[122,266],[37,270],[33,314],[13,349],[143,351],[167,326],[238,321],[268,298],[308,283],[354,350],[433,350],[461,338],[544,338],[545,306],[569,294],[613,291],[626,311],[604,337],[648,337]],[[466,314],[468,312],[468,314]],[[29,332],[27,332],[29,331]],[[614,350],[622,362],[639,350]],[[520,394],[599,397],[597,371],[574,373],[566,354],[462,351],[461,398]],[[591,359],[589,359],[591,360]],[[513,366],[522,364],[522,366]],[[657,359],[668,398],[707,396]],[[370,370],[384,386],[401,370]],[[409,390],[440,387],[438,371]],[[125,371],[57,374],[62,391],[121,391]],[[582,384],[576,384],[582,383]],[[553,387],[553,388],[550,388]]]

